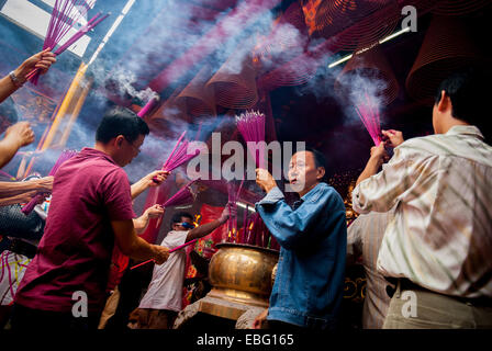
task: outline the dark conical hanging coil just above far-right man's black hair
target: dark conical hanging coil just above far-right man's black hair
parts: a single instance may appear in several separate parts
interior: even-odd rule
[[[446,77],[482,64],[484,57],[460,19],[434,16],[406,78],[406,91],[415,100],[431,100]]]

